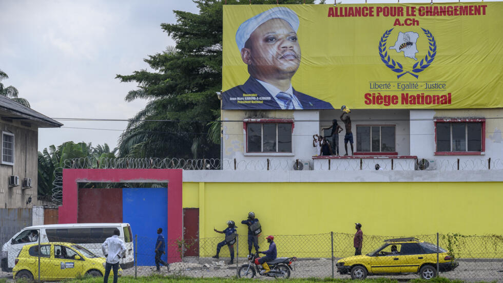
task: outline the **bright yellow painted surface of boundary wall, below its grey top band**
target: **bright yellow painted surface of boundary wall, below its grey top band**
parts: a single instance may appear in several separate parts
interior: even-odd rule
[[[503,234],[501,182],[184,183],[183,194],[184,207],[200,208],[200,238],[207,238],[201,241],[201,256],[215,253],[223,235],[213,228],[225,229],[227,220],[234,220],[238,233],[246,235],[241,220],[249,211],[262,224],[261,250],[267,248],[263,237],[269,234],[323,234],[277,237],[284,256],[329,257],[330,231],[349,234],[336,235],[340,246],[336,251],[351,253],[355,222],[362,223],[365,235]],[[363,252],[370,252],[384,238],[369,238]],[[247,253],[246,247],[243,237],[240,255]],[[221,255],[226,254],[224,247]]]

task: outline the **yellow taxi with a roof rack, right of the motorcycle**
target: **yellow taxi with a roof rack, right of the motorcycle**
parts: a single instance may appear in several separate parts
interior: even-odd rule
[[[446,250],[439,247],[438,252],[440,271],[451,271],[458,266]],[[422,279],[431,279],[437,275],[437,246],[416,238],[389,239],[371,253],[339,259],[336,267],[337,272],[349,273],[353,279],[413,273],[419,273]]]

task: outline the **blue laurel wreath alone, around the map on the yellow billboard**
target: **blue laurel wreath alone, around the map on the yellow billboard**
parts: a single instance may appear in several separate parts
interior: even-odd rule
[[[412,70],[405,70],[403,65],[398,61],[393,60],[388,54],[388,50],[386,49],[386,41],[388,41],[388,37],[391,34],[393,29],[386,30],[384,34],[381,36],[381,40],[379,41],[379,56],[381,57],[381,61],[386,65],[386,67],[390,68],[390,70],[398,73],[397,79],[400,79],[404,74],[411,74],[414,78],[419,78],[416,73],[424,71],[428,68],[433,60],[435,60],[435,55],[437,54],[437,43],[435,41],[435,37],[431,32],[427,29],[421,28],[426,37],[428,37],[428,42],[430,43],[430,47],[428,50],[428,54],[424,56],[421,61],[417,62],[412,66]]]

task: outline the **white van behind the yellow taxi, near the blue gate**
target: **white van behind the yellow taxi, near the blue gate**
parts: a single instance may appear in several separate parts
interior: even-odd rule
[[[25,244],[38,242],[71,242],[80,244],[94,254],[104,257],[101,244],[119,229],[119,236],[126,243],[126,257],[121,259],[121,268],[134,266],[133,237],[128,223],[82,223],[50,224],[26,227],[18,232],[2,247],[2,271],[11,272],[14,260]]]

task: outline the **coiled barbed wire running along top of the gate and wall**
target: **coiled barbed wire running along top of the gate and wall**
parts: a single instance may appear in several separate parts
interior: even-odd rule
[[[63,169],[184,169],[184,170],[233,170],[233,171],[464,171],[503,169],[502,159],[422,159],[422,158],[333,158],[333,159],[183,159],[183,158],[74,158],[63,162],[54,171],[52,201],[62,203]]]

